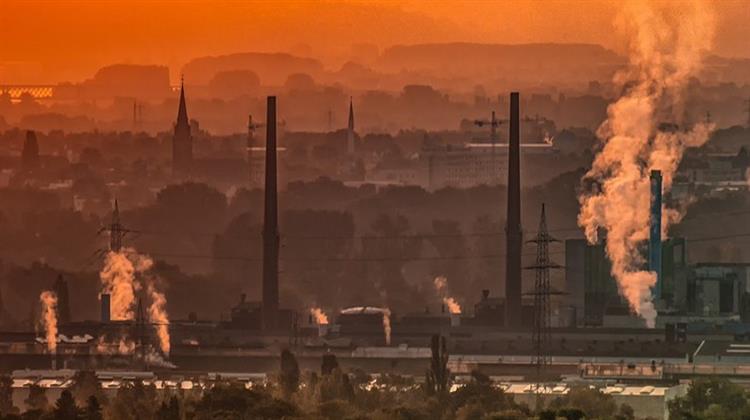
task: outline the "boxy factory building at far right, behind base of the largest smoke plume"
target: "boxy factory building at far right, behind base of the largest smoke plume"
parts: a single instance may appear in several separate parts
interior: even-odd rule
[[[750,264],[687,261],[687,241],[661,243],[661,298],[658,325],[678,320],[726,322],[750,319]],[[603,244],[565,241],[564,301],[575,309],[577,325],[622,326],[635,319],[620,296]],[[581,315],[582,314],[582,315]]]

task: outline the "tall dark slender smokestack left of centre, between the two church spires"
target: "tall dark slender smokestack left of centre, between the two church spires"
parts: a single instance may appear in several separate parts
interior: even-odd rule
[[[266,109],[266,188],[263,218],[263,329],[276,328],[279,310],[279,222],[276,174],[276,97]]]

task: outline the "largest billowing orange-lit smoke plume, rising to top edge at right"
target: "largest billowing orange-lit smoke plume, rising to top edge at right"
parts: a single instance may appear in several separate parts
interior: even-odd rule
[[[709,6],[680,3],[675,16],[652,2],[625,6],[618,22],[629,35],[629,66],[614,80],[623,94],[607,109],[597,132],[602,148],[583,179],[596,188],[579,196],[578,224],[590,243],[598,242],[600,230],[606,232],[619,291],[650,328],[657,315],[651,295],[656,273],[643,269],[640,252],[649,234],[649,174],[660,170],[668,192],[685,149],[704,144],[713,129],[685,121],[684,101],[712,43],[715,19]],[[664,122],[678,126],[660,129]],[[681,216],[663,205],[662,237]]]

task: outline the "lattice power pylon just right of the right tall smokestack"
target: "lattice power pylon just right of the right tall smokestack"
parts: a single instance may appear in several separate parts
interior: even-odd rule
[[[543,372],[551,362],[549,353],[550,343],[552,342],[550,334],[550,296],[553,292],[549,284],[549,270],[561,268],[559,264],[552,262],[549,257],[549,244],[559,241],[552,237],[547,230],[544,203],[542,203],[542,216],[539,220],[537,235],[528,242],[536,244],[536,261],[533,265],[527,266],[526,269],[536,272],[534,290],[527,294],[534,296],[534,364],[537,381],[541,382]]]

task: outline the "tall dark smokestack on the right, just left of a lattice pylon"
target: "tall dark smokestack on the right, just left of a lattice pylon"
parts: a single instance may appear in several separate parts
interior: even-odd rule
[[[521,325],[521,133],[518,92],[510,94],[508,213],[506,217],[505,325]]]

